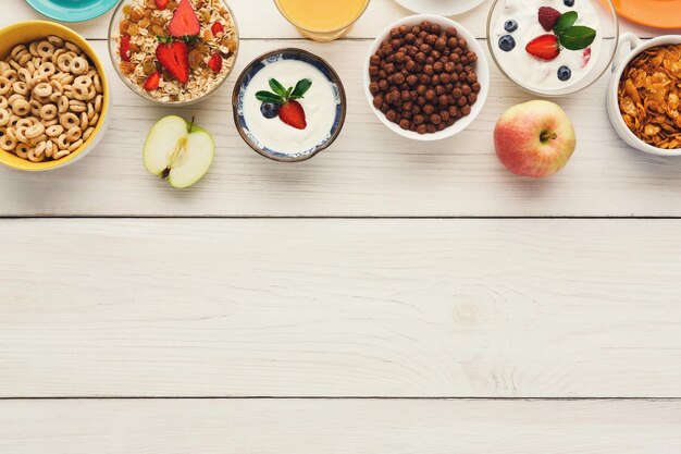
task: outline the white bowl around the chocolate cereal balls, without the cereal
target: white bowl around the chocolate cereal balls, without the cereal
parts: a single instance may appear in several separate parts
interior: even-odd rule
[[[399,27],[401,25],[413,26],[418,25],[422,21],[430,21],[434,24],[439,25],[441,27],[455,27],[458,32],[458,35],[462,38],[466,38],[468,48],[478,54],[478,61],[475,62],[475,74],[478,75],[478,82],[480,83],[480,93],[478,94],[478,100],[471,107],[471,113],[468,116],[463,116],[456,123],[454,123],[449,127],[445,127],[443,131],[438,131],[433,134],[419,134],[413,131],[406,131],[399,127],[398,124],[391,122],[385,114],[381,112],[373,106],[373,95],[369,90],[369,84],[371,78],[369,76],[369,59],[373,56],[376,50],[381,47],[381,42],[386,39],[391,35],[391,29],[395,27]],[[367,102],[369,102],[369,108],[376,114],[376,118],[381,120],[383,124],[387,126],[388,130],[393,131],[396,134],[399,134],[403,137],[410,138],[413,140],[442,140],[444,138],[451,137],[461,131],[466,130],[480,114],[483,106],[485,105],[485,100],[487,99],[487,94],[490,93],[490,64],[487,63],[487,58],[485,57],[485,52],[475,39],[475,36],[471,34],[468,29],[466,29],[459,23],[443,17],[439,15],[433,14],[418,14],[409,17],[400,19],[399,21],[387,26],[383,32],[379,34],[376,39],[373,41],[371,47],[369,48],[369,52],[367,53],[367,59],[364,63],[364,75],[363,75],[363,84],[364,84],[364,95],[367,96]]]

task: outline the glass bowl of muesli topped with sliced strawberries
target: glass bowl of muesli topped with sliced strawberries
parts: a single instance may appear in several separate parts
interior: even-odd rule
[[[109,26],[121,79],[162,105],[190,105],[214,93],[232,72],[238,46],[224,0],[123,0]]]

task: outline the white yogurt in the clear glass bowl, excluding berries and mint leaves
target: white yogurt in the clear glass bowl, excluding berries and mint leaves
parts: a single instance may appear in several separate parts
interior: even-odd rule
[[[568,50],[561,48],[560,54],[552,61],[542,61],[525,51],[525,46],[537,36],[550,34],[546,32],[537,20],[541,7],[552,7],[560,13],[577,11],[579,17],[574,25],[585,25],[596,30],[596,39],[587,48],[591,57],[584,63],[584,49]],[[574,7],[566,7],[562,0],[505,0],[499,8],[498,21],[494,24],[493,33],[494,56],[504,71],[520,85],[538,91],[560,90],[580,82],[594,68],[600,52],[600,22],[598,13],[589,0],[575,0]],[[518,22],[518,29],[506,32],[506,21]],[[516,40],[516,47],[510,52],[499,48],[499,38],[510,35]],[[562,65],[572,71],[568,81],[560,81],[557,76],[558,69]]]

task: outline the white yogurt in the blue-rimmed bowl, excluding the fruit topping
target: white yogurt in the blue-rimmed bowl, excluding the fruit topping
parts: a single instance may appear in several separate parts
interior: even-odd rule
[[[285,87],[294,87],[304,78],[312,81],[305,97],[298,99],[308,124],[305,130],[296,130],[278,116],[273,119],[262,116],[260,112],[262,102],[256,99],[256,93],[272,91],[270,78],[276,78]],[[269,62],[248,84],[243,102],[246,125],[258,145],[290,155],[309,150],[331,137],[336,107],[334,88],[326,76],[313,65],[299,60]]]

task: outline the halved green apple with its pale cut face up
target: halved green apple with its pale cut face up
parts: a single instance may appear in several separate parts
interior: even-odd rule
[[[159,120],[147,136],[143,158],[154,175],[173,187],[189,187],[206,175],[215,156],[215,142],[203,128],[176,115]]]

